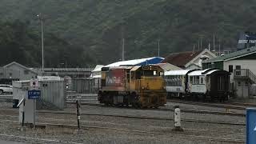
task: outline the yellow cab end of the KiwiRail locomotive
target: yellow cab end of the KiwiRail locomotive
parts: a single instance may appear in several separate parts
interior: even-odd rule
[[[130,70],[130,93],[142,107],[166,104],[164,70],[160,66],[135,66]]]

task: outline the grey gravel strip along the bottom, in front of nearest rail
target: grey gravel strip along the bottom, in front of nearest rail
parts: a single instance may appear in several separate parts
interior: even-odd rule
[[[181,132],[169,135],[162,135],[133,133],[120,130],[88,129],[77,131],[63,128],[48,128],[46,130],[26,129],[24,131],[21,131],[17,130],[18,127],[18,124],[0,122],[0,139],[26,143],[232,143],[219,142],[216,141],[216,139],[210,138],[187,136],[186,134],[183,135],[184,133],[181,134]],[[6,134],[10,134],[12,135],[12,137],[6,137]]]

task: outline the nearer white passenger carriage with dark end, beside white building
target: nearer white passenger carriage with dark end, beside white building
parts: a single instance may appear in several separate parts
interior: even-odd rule
[[[187,86],[188,97],[224,101],[230,90],[230,73],[226,70],[195,70],[188,74]]]

